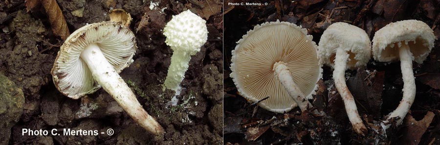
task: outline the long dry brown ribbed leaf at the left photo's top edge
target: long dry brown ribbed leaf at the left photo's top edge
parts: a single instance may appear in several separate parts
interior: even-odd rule
[[[41,3],[43,4],[46,15],[49,18],[53,34],[66,40],[67,36],[70,35],[70,32],[58,3],[55,0],[41,0]]]

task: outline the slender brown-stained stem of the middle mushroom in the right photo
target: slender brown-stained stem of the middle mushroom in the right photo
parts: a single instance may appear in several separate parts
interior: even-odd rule
[[[364,126],[359,113],[357,112],[356,103],[354,102],[352,93],[345,84],[345,70],[347,68],[347,59],[349,59],[349,56],[350,55],[344,49],[337,49],[333,71],[334,85],[344,101],[345,110],[347,111],[347,115],[352,123],[354,131],[360,135],[365,135],[367,128]]]

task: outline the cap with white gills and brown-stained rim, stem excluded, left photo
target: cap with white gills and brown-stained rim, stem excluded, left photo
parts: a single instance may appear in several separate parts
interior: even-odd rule
[[[51,71],[56,88],[70,98],[78,99],[101,88],[80,57],[84,48],[92,43],[100,47],[118,73],[133,61],[136,40],[129,28],[106,21],[88,24],[76,30],[61,46]]]

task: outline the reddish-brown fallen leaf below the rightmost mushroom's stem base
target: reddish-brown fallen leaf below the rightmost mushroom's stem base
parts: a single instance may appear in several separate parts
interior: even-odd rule
[[[422,120],[416,121],[410,114],[407,114],[404,119],[404,130],[401,140],[401,145],[418,145],[420,138],[426,129],[431,124],[435,114],[428,111]]]

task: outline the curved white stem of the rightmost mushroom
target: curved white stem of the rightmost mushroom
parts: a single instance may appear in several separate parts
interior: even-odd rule
[[[416,96],[416,81],[413,73],[413,56],[409,46],[406,43],[401,44],[402,45],[399,47],[399,55],[400,69],[402,71],[403,79],[403,97],[399,106],[397,106],[397,108],[391,112],[380,124],[385,131],[391,126],[389,120],[393,117],[399,117],[396,120],[396,125],[400,125],[402,123],[403,118],[405,118],[406,113],[408,113],[408,110],[411,108]]]

